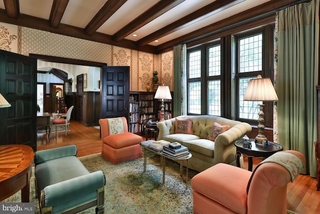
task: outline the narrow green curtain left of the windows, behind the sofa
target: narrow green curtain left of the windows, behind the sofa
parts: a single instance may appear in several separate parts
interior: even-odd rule
[[[186,115],[186,45],[173,47],[173,117]]]

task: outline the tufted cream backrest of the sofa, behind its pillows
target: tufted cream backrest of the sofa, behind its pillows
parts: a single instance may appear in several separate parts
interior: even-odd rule
[[[192,132],[203,139],[209,139],[209,135],[212,130],[213,123],[219,123],[220,125],[229,125],[233,127],[240,124],[240,121],[230,120],[223,117],[213,115],[181,115],[176,118],[192,118]],[[170,119],[172,121],[172,127],[170,127],[170,134],[174,133],[175,118]]]

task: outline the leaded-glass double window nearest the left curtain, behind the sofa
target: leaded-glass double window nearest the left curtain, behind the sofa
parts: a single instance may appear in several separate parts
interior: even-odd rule
[[[215,43],[187,52],[188,114],[221,115],[220,48]]]

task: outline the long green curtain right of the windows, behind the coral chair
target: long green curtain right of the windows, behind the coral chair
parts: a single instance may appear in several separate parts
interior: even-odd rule
[[[319,0],[277,12],[275,137],[306,158],[302,173],[316,176]]]

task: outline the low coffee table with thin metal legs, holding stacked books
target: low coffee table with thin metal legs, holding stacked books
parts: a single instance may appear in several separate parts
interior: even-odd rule
[[[172,158],[166,154],[163,154],[160,151],[154,150],[152,148],[149,148],[147,146],[144,146],[142,144],[140,144],[140,146],[144,149],[144,157],[143,157],[143,172],[146,171],[146,150],[151,151],[155,154],[160,155],[160,165],[162,166],[162,185],[164,185],[165,183],[165,158],[171,159],[171,160],[178,160],[180,162],[180,176],[183,179],[182,175],[183,175],[183,165],[182,165],[182,161],[186,161],[186,176],[185,176],[185,183],[187,184],[188,182],[188,159],[190,159],[192,157],[192,154],[189,153],[188,156],[186,157],[181,157],[181,158]]]

